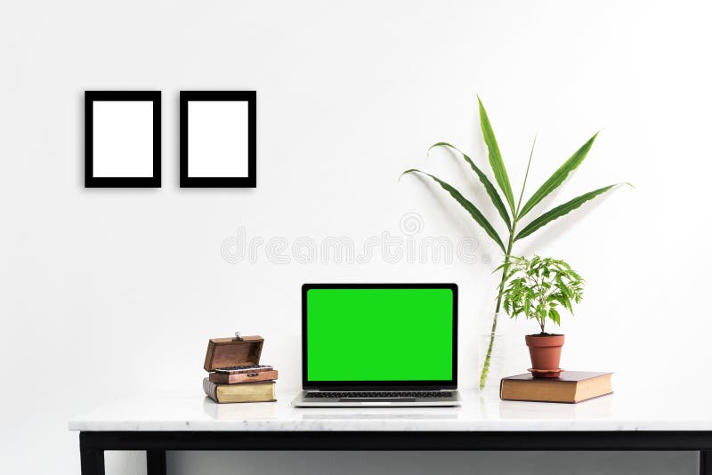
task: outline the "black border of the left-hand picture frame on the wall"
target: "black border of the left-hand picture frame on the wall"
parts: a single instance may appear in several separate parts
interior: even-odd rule
[[[96,101],[149,101],[153,104],[153,172],[151,176],[94,176],[94,113]],[[85,91],[85,188],[160,188],[161,92]]]

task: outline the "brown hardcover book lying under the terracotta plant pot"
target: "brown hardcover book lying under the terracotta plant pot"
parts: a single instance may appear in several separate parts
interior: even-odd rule
[[[558,378],[535,378],[530,373],[502,378],[499,397],[512,401],[577,403],[611,394],[612,373],[562,371]]]

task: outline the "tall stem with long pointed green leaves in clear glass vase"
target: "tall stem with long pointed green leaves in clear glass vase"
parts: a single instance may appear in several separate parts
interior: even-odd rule
[[[539,214],[536,218],[529,220],[528,213],[530,213],[535,208],[539,207],[541,201],[551,194],[554,189],[559,188],[559,186],[566,181],[569,174],[578,168],[578,165],[584,161],[588,154],[588,150],[594,144],[595,138],[598,133],[595,133],[593,137],[588,139],[578,150],[576,150],[571,157],[569,157],[563,165],[561,165],[550,177],[546,180],[535,192],[531,195],[529,199],[522,202],[522,197],[524,197],[524,189],[527,186],[527,177],[529,176],[531,157],[534,154],[534,144],[536,143],[536,137],[534,138],[534,143],[531,145],[531,151],[529,156],[529,163],[527,165],[527,172],[524,174],[524,180],[522,182],[522,191],[519,194],[519,199],[515,201],[514,193],[512,191],[512,185],[509,181],[509,175],[506,172],[505,162],[502,159],[502,155],[499,153],[499,146],[497,139],[495,138],[495,133],[492,130],[492,125],[490,124],[490,118],[487,116],[487,112],[482,105],[480,98],[477,98],[480,109],[480,125],[482,138],[489,152],[489,161],[492,174],[494,175],[495,181],[497,182],[498,188],[492,184],[490,178],[482,172],[480,167],[475,165],[470,157],[467,157],[462,151],[457,149],[457,147],[450,145],[447,142],[438,142],[428,149],[428,152],[433,148],[446,148],[454,152],[457,152],[461,156],[467,165],[472,168],[474,176],[477,180],[481,182],[487,195],[490,197],[492,205],[494,205],[497,213],[502,218],[502,225],[506,228],[504,234],[500,235],[500,231],[495,229],[495,227],[490,223],[490,221],[485,218],[484,214],[481,213],[480,209],[469,201],[462,193],[460,193],[456,188],[450,185],[447,181],[442,181],[440,178],[430,174],[425,173],[417,168],[411,168],[406,170],[401,174],[405,175],[408,173],[421,173],[427,177],[430,177],[442,189],[448,192],[450,197],[453,197],[459,205],[461,205],[467,213],[489,236],[492,241],[498,246],[498,248],[504,254],[503,265],[500,266],[502,269],[502,278],[498,285],[498,299],[495,304],[495,313],[492,318],[492,327],[490,331],[490,343],[487,348],[487,354],[484,359],[484,364],[482,365],[482,370],[480,374],[480,389],[484,388],[485,382],[487,382],[487,374],[490,371],[490,358],[492,354],[492,345],[495,340],[495,334],[497,332],[497,316],[502,306],[502,290],[505,286],[506,275],[508,274],[508,266],[512,256],[512,249],[514,243],[521,240],[522,238],[527,238],[531,234],[545,227],[551,221],[561,218],[563,215],[570,213],[571,211],[577,209],[580,205],[587,203],[606,193],[607,191],[615,188],[620,183],[604,186],[603,188],[594,189],[578,197],[570,199],[562,205],[555,206],[554,208]],[[500,195],[500,191],[502,195]],[[504,196],[504,199],[502,198]],[[526,219],[525,219],[526,218]],[[522,228],[520,229],[520,226]],[[503,236],[504,238],[500,237]]]

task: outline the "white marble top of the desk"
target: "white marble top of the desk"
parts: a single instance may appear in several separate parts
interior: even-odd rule
[[[294,408],[185,397],[128,399],[78,415],[72,431],[712,431],[704,398],[616,393],[576,405],[501,401],[461,391],[462,407]]]

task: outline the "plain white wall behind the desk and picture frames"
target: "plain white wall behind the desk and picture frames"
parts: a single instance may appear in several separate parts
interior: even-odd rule
[[[472,388],[473,335],[495,282],[483,255],[496,260],[497,249],[430,183],[397,179],[425,167],[482,198],[456,160],[425,157],[433,142],[451,141],[485,164],[477,93],[516,187],[536,131],[530,190],[599,129],[556,200],[635,184],[518,248],[563,257],[587,278],[586,300],[562,328],[566,366],[614,370],[619,391],[700,374],[712,329],[710,13],[703,3],[600,0],[5,0],[0,471],[77,473],[70,415],[136,393],[196,390],[206,340],[235,329],[266,336],[263,359],[279,366],[282,389],[295,388],[305,281],[456,281],[460,378]],[[163,91],[164,187],[84,189],[83,91],[130,88]],[[179,189],[178,92],[221,88],[258,91],[258,188]],[[368,264],[276,264],[262,253],[231,264],[221,256],[239,227],[248,238],[345,236],[360,246],[384,230],[402,236],[410,212],[425,222],[417,238],[477,238],[478,262],[393,264],[376,255]],[[238,458],[169,463],[176,473],[229,472],[255,455],[225,456]],[[351,456],[329,455],[343,464]],[[453,471],[498,472],[497,456],[458,455]],[[528,456],[508,458],[510,472],[538,473]],[[565,460],[591,473],[632,473],[651,460],[611,456]],[[387,467],[408,460],[377,457]],[[656,457],[640,466],[696,470],[690,454]],[[294,467],[310,470],[299,460]],[[141,471],[125,455],[109,468]]]

